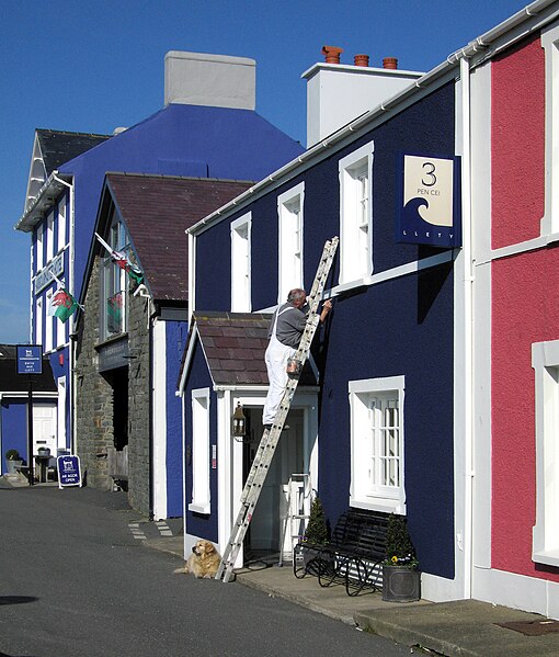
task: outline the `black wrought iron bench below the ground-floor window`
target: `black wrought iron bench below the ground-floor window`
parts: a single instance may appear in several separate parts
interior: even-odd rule
[[[361,509],[342,513],[328,545],[299,542],[295,545],[293,569],[297,578],[318,577],[322,587],[343,584],[347,596],[365,587],[381,587],[380,564],[386,557],[388,514]]]

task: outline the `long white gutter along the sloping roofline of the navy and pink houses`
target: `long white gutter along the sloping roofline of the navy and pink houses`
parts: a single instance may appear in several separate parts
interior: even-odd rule
[[[277,169],[277,171],[274,171],[267,178],[251,186],[249,190],[233,199],[228,204],[207,215],[204,219],[189,228],[186,233],[192,235],[203,233],[213,224],[216,224],[219,220],[224,219],[226,215],[228,215],[230,212],[239,209],[246,203],[252,201],[256,195],[263,194],[264,190],[266,190],[270,185],[283,182],[284,179],[288,178],[288,174],[292,171],[295,171],[301,165],[309,163],[315,158],[318,158],[320,156],[323,157],[323,154],[327,149],[332,148],[334,145],[343,141],[343,139],[347,138],[353,133],[356,133],[369,126],[375,120],[383,117],[383,115],[386,114],[388,110],[396,109],[398,105],[407,101],[409,97],[418,93],[418,89],[425,89],[438,78],[442,78],[443,76],[449,73],[452,69],[455,68],[461,59],[474,58],[476,56],[481,57],[481,55],[483,55],[484,53],[488,56],[492,56],[495,53],[500,52],[503,47],[510,47],[512,43],[521,38],[524,38],[526,35],[539,29],[541,24],[538,23],[531,25],[524,32],[513,35],[511,41],[506,42],[506,44],[490,50],[490,47],[492,45],[495,45],[498,39],[503,37],[505,34],[510,33],[512,30],[524,23],[529,18],[537,16],[545,9],[555,3],[557,3],[557,0],[536,0],[535,2],[532,2],[527,7],[509,18],[506,21],[500,23],[489,32],[486,32],[481,36],[478,36],[476,39],[471,41],[464,48],[460,48],[459,50],[456,50],[455,53],[448,55],[445,61],[440,64],[437,67],[433,68],[431,71],[426,72],[418,80],[415,80],[415,82],[412,82],[403,91],[397,93],[396,95],[388,99],[386,102],[381,103],[377,107],[374,107],[368,112],[365,112],[364,114],[349,123],[346,126],[340,128],[339,131],[330,135],[330,137],[327,137],[322,141],[316,144],[315,146],[312,146],[312,148],[309,148],[296,159],[292,160],[290,162],[287,162],[287,165],[285,165],[281,169]],[[551,11],[547,16],[544,16],[543,22],[549,22],[557,15],[559,15],[559,8],[555,11]],[[476,65],[477,63],[471,63],[469,65],[469,68],[472,68]]]

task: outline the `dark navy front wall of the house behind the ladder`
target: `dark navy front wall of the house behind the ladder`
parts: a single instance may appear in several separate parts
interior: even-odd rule
[[[437,253],[393,241],[401,151],[455,154],[454,84],[433,92],[253,202],[197,240],[196,305],[230,307],[229,223],[252,211],[252,308],[277,301],[277,196],[305,180],[304,267],[310,286],[327,239],[340,234],[339,160],[370,140],[373,263],[379,273]],[[338,282],[338,261],[330,285]],[[349,506],[349,382],[404,376],[404,480],[410,531],[425,571],[454,577],[454,271],[450,263],[336,298],[320,354],[320,496],[330,522]]]

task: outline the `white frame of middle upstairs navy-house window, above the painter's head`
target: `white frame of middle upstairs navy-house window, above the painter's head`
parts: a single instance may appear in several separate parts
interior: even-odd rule
[[[286,267],[286,260],[293,257],[293,243],[295,237],[293,226],[287,229],[286,223],[293,216],[287,207],[298,202],[299,207],[299,239],[300,239],[300,262],[299,271]],[[278,256],[277,256],[277,303],[283,304],[287,298],[289,290],[295,287],[305,287],[304,281],[304,251],[305,251],[305,181],[299,182],[287,192],[277,196],[277,235],[278,235]],[[292,271],[288,271],[288,270]],[[286,281],[287,279],[287,281]]]

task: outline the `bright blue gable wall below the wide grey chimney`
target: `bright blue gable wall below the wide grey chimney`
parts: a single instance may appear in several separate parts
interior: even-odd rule
[[[60,172],[76,182],[76,291],[83,283],[106,171],[199,174],[258,181],[303,152],[301,146],[249,110],[168,105],[144,122],[70,160]]]

